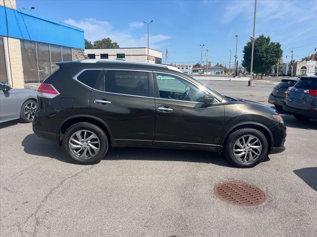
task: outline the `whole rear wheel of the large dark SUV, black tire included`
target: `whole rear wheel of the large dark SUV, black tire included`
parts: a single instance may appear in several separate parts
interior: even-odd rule
[[[88,140],[89,138],[91,139]],[[105,132],[100,127],[89,122],[79,122],[66,130],[63,147],[73,162],[97,164],[105,157],[109,143]]]

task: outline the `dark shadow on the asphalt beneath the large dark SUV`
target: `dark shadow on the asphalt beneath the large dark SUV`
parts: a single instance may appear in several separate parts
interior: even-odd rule
[[[24,152],[34,156],[54,158],[62,162],[73,163],[68,159],[62,147],[44,140],[37,135],[27,135],[21,144]],[[224,167],[234,167],[226,158],[213,152],[194,150],[174,150],[157,148],[114,148],[108,151],[103,160],[161,160],[212,163]],[[263,162],[269,158],[264,158]]]

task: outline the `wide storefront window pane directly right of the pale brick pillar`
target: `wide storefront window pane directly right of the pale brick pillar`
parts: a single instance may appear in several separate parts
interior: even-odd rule
[[[38,67],[36,63],[35,42],[21,40],[21,54],[24,81],[38,83]]]

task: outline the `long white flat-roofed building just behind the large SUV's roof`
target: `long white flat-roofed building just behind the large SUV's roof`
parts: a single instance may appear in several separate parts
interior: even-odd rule
[[[85,57],[146,63],[147,52],[147,48],[94,48],[85,49]],[[162,52],[149,48],[149,63],[162,63]]]

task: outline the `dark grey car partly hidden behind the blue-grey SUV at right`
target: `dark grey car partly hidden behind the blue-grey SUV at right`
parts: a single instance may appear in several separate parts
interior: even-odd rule
[[[298,78],[282,79],[280,83],[274,86],[272,93],[269,94],[268,103],[282,109],[285,103],[287,88],[295,85],[298,80]]]

